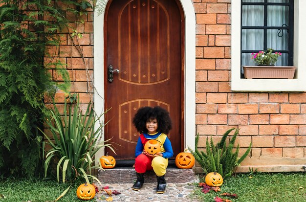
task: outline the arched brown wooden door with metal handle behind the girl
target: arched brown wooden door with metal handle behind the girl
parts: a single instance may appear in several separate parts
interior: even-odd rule
[[[105,16],[105,139],[116,159],[133,159],[139,134],[132,125],[143,106],[170,112],[175,155],[183,147],[184,19],[176,0],[111,0]],[[99,37],[99,36],[95,36]],[[113,81],[108,79],[108,67]],[[97,79],[97,78],[96,78]],[[120,146],[118,146],[118,145]],[[112,153],[109,149],[107,152]]]

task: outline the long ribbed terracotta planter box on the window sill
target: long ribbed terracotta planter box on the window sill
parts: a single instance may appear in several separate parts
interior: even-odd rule
[[[293,79],[296,67],[292,66],[243,66],[246,79]]]

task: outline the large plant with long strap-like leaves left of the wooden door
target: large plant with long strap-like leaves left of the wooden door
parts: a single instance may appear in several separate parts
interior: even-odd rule
[[[95,117],[94,110],[89,103],[85,112],[80,109],[79,99],[75,104],[64,104],[64,115],[61,114],[53,104],[53,110],[50,110],[50,115],[46,117],[45,123],[52,134],[52,139],[46,135],[45,144],[51,146],[51,149],[46,154],[44,162],[44,174],[47,176],[48,169],[56,167],[56,176],[59,181],[62,178],[66,180],[74,180],[79,176],[83,176],[87,182],[88,176],[97,180],[91,175],[91,169],[100,167],[92,165],[94,155],[102,147],[109,147],[110,144],[106,141],[100,141],[99,137],[102,128],[101,125],[95,128],[95,123],[99,117]],[[102,114],[103,115],[103,114]],[[114,151],[113,151],[114,152]]]

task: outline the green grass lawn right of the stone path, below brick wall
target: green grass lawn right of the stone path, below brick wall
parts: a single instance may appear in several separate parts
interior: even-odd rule
[[[207,194],[197,188],[193,197],[202,202],[215,202],[216,196],[232,202],[306,202],[306,173],[238,174],[224,180],[220,188]],[[224,192],[237,194],[238,199],[220,196]]]

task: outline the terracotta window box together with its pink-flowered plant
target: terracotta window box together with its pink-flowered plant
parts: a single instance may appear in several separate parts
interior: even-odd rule
[[[280,52],[273,52],[272,48],[266,51],[252,53],[252,59],[257,66],[243,66],[244,77],[247,79],[293,79],[295,67],[274,66]]]

